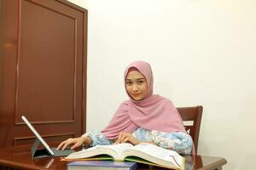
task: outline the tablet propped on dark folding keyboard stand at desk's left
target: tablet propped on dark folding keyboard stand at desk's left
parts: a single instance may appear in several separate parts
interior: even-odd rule
[[[49,145],[40,136],[40,134],[36,131],[36,129],[32,126],[32,124],[26,119],[26,116],[21,116],[21,119],[26,123],[26,125],[30,128],[32,133],[34,133],[34,135],[36,136],[34,144],[32,145],[32,158],[43,158],[49,156],[68,156],[69,154],[74,152],[74,150],[70,149],[57,150],[56,148],[50,148]],[[39,144],[43,144],[44,149],[38,150]]]

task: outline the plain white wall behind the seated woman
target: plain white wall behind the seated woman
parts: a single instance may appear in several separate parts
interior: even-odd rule
[[[143,59],[153,67],[155,94],[177,106],[204,106],[199,154],[225,157],[224,169],[254,168],[255,0],[88,0],[86,5],[88,130],[108,124],[127,99],[126,65]]]

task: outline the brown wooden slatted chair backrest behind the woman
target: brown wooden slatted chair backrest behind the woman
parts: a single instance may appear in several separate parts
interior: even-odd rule
[[[197,105],[195,107],[177,107],[177,111],[179,112],[180,116],[183,119],[186,131],[193,139],[196,154],[203,107],[201,105]],[[186,122],[189,122],[189,124],[187,124]],[[193,123],[191,124],[191,122]]]

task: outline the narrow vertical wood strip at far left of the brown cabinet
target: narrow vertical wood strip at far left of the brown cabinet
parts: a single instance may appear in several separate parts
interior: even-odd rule
[[[18,3],[9,4],[10,1],[1,1],[1,31],[0,37],[3,46],[0,46],[3,72],[1,76],[0,100],[0,146],[12,145],[14,136],[14,111],[15,111],[15,63],[17,54],[17,23],[15,16],[19,10]],[[10,6],[11,5],[11,6]]]

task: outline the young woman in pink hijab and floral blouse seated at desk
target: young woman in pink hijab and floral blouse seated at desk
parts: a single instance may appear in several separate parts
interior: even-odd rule
[[[125,70],[125,90],[129,100],[123,102],[102,132],[84,133],[79,138],[59,144],[64,150],[73,144],[120,144],[147,142],[160,147],[191,154],[192,139],[170,99],[153,94],[153,74],[147,62],[136,61]]]

